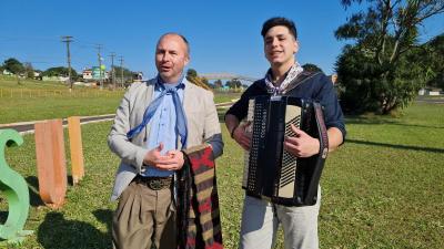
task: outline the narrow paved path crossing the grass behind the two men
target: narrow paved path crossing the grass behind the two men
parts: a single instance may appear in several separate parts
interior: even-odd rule
[[[230,107],[233,103],[225,102],[219,103],[215,106],[220,108]],[[105,114],[99,116],[81,116],[80,124],[89,124],[89,123],[98,123],[103,121],[112,121],[114,120],[114,114]],[[0,129],[2,128],[13,128],[20,134],[32,134],[34,133],[34,124],[42,121],[30,121],[30,122],[21,122],[21,123],[12,123],[12,124],[0,124]],[[68,120],[63,118],[63,126],[68,125]]]

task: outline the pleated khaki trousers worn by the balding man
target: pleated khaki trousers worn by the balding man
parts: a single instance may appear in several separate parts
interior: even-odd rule
[[[176,248],[172,190],[152,190],[132,181],[119,198],[112,218],[114,249]]]

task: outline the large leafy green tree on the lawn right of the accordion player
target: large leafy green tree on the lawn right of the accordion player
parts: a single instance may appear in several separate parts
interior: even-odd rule
[[[344,8],[363,0],[341,0]],[[336,62],[345,110],[387,114],[413,101],[427,75],[408,62],[424,20],[443,13],[444,0],[366,0],[367,10],[339,27],[339,40],[354,40]],[[356,91],[356,92],[353,92]],[[350,98],[347,98],[350,97]],[[355,102],[357,101],[357,102]],[[355,102],[355,103],[353,103]],[[353,106],[355,105],[355,106]],[[356,108],[355,108],[356,110]]]

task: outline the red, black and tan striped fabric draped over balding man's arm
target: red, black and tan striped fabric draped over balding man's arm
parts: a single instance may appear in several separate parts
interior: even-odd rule
[[[178,248],[222,249],[214,157],[210,146],[184,152],[178,174]]]

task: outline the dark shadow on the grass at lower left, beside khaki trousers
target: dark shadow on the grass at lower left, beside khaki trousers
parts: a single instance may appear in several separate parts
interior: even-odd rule
[[[67,220],[63,214],[51,211],[38,228],[38,241],[46,249],[111,248],[111,210],[98,209],[93,214],[107,224],[107,232],[84,221]]]

